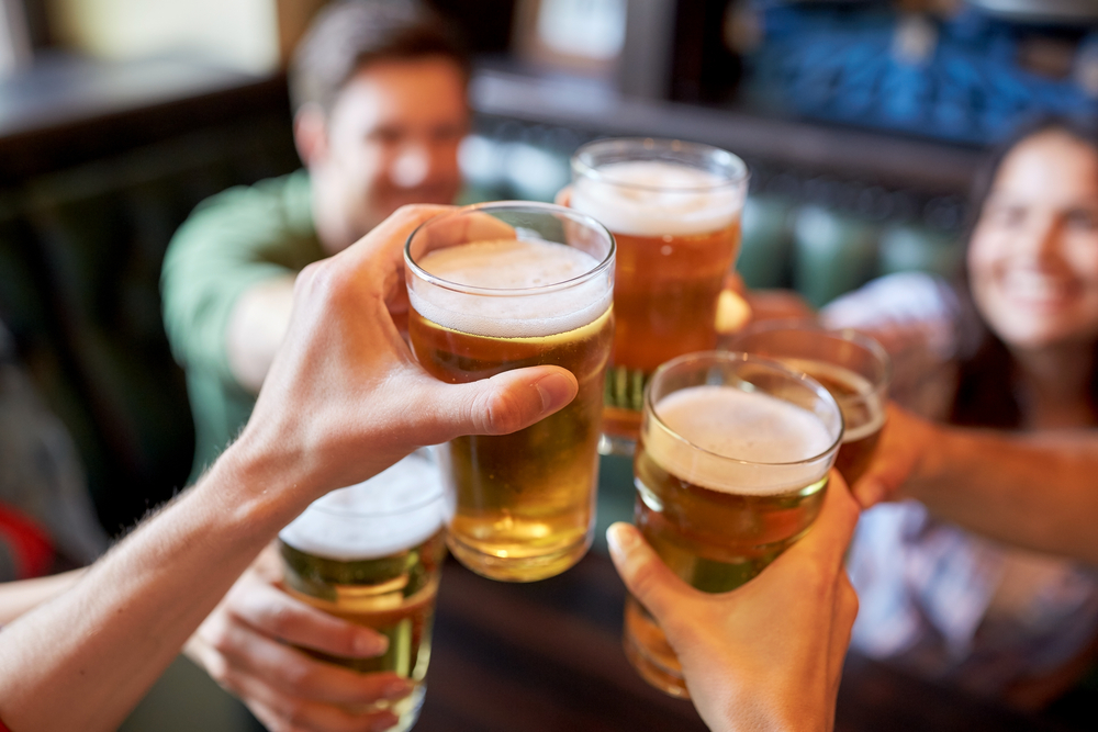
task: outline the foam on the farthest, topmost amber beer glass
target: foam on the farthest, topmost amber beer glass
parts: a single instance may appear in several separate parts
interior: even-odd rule
[[[690,236],[717,232],[730,226],[743,207],[744,187],[676,162],[609,162],[600,166],[598,176],[598,180],[579,178],[569,205],[615,234]]]

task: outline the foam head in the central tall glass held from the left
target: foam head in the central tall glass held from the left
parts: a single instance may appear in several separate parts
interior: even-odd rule
[[[568,333],[610,306],[610,273],[552,292],[516,294],[586,274],[598,261],[585,251],[541,239],[496,239],[432,251],[419,268],[435,277],[496,294],[467,294],[418,280],[408,300],[444,328],[493,338],[537,338]]]

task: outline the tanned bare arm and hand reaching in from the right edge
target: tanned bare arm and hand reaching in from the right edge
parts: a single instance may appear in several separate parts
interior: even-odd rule
[[[1098,430],[966,429],[893,406],[855,492],[863,506],[917,498],[994,539],[1098,563]]]

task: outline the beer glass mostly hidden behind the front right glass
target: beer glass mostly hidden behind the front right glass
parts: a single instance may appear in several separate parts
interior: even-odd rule
[[[885,426],[892,360],[884,347],[854,330],[828,330],[804,320],[748,326],[730,348],[774,359],[824,384],[842,409],[847,429],[836,468],[854,483],[870,466]]]

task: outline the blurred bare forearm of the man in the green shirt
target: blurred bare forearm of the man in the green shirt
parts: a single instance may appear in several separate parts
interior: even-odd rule
[[[293,277],[260,282],[242,294],[228,317],[225,350],[236,381],[259,393],[274,353],[290,327]]]

